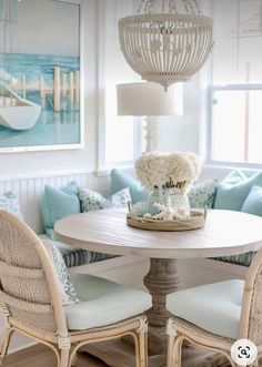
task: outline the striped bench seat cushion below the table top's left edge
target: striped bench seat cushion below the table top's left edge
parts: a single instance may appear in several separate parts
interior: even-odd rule
[[[43,241],[48,239],[48,241],[52,241],[54,243],[54,245],[60,251],[67,267],[98,263],[103,259],[115,257],[113,255],[100,254],[100,253],[90,252],[90,251],[85,251],[82,248],[69,246],[60,241],[50,239],[50,237],[47,234],[41,234],[39,237],[40,237],[40,239],[43,239]]]

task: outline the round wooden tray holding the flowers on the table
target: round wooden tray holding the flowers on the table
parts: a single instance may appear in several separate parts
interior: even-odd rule
[[[162,231],[162,232],[179,232],[179,231],[192,231],[202,228],[205,223],[206,211],[205,210],[191,210],[191,217],[189,220],[180,221],[160,221],[143,218],[132,214],[127,215],[128,225],[148,231]]]

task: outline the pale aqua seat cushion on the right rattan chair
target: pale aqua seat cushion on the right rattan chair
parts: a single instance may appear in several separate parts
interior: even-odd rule
[[[243,289],[239,279],[208,284],[169,295],[167,307],[209,333],[238,339]]]

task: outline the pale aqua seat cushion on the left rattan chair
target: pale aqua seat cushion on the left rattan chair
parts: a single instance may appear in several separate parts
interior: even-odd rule
[[[142,290],[85,274],[71,276],[80,303],[64,307],[70,330],[111,325],[142,314],[151,296]]]

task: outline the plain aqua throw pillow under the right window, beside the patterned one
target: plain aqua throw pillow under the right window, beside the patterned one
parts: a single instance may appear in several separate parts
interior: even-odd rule
[[[262,172],[246,177],[240,171],[231,172],[218,186],[214,208],[241,211],[252,186],[262,186]]]

